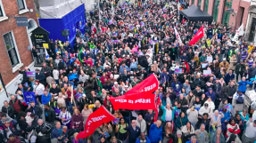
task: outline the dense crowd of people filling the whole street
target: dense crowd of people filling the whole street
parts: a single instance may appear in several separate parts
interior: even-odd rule
[[[50,58],[34,78],[20,70],[23,80],[2,107],[1,143],[255,143],[256,103],[246,106],[244,95],[256,88],[253,44],[243,36],[232,41],[227,26],[214,21],[179,20],[178,1],[99,6],[73,45],[51,40]],[[205,37],[189,45],[202,26]],[[152,109],[113,109],[110,97],[152,74],[160,84],[156,122]],[[36,100],[24,102],[24,91]],[[101,106],[115,120],[77,139]]]

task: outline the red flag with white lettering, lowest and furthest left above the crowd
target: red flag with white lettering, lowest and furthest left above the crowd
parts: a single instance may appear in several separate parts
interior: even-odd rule
[[[115,119],[115,117],[111,115],[105,107],[102,106],[98,108],[88,116],[85,131],[81,131],[78,134],[77,139],[86,139],[88,136],[93,134],[99,126],[103,125],[103,123],[109,123],[113,119]]]

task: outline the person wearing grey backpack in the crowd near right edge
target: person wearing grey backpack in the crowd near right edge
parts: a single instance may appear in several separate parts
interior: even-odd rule
[[[238,113],[239,111],[242,111],[244,108],[244,94],[242,91],[237,91],[232,100],[232,106],[235,109],[235,111]]]

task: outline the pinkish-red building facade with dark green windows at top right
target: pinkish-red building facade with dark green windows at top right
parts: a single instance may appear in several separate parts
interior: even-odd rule
[[[227,23],[237,29],[242,23],[244,28],[246,26],[250,0],[189,0],[189,4],[200,5],[201,10],[212,15],[217,23]],[[227,9],[233,9],[234,13],[228,13]]]

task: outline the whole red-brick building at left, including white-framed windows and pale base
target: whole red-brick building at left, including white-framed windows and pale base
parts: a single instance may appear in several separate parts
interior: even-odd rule
[[[14,17],[28,17],[29,27],[17,27]],[[33,63],[29,32],[34,28],[37,15],[33,0],[0,0],[0,72],[8,92],[14,93],[21,83],[19,68],[30,68]],[[6,97],[4,90],[0,96]]]

